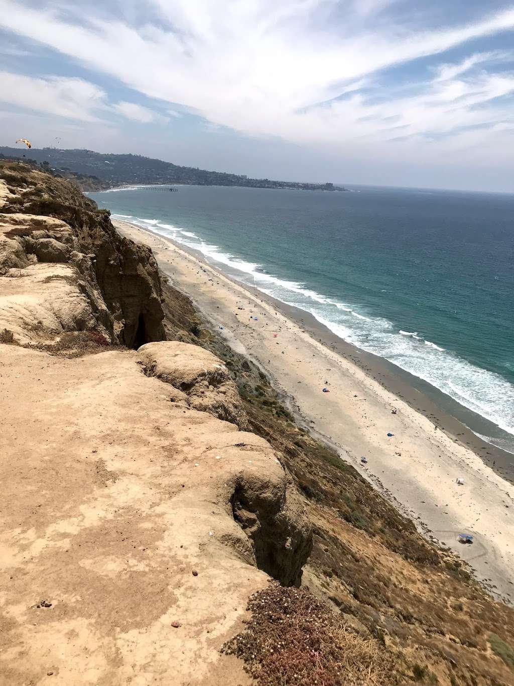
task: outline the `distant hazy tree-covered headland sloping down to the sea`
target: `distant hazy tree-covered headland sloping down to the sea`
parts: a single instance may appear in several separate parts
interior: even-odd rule
[[[62,176],[72,173],[73,180],[83,190],[98,190],[134,183],[180,183],[200,186],[245,186],[251,188],[286,188],[303,191],[344,191],[332,183],[298,183],[273,181],[268,178],[247,178],[224,171],[206,171],[197,167],[181,167],[171,162],[132,154],[103,154],[93,150],[59,150],[44,147],[42,150],[22,150],[19,147],[0,147],[6,157],[21,158],[37,163],[48,163],[49,169]],[[82,175],[82,180],[79,176]],[[94,179],[97,179],[97,188]]]

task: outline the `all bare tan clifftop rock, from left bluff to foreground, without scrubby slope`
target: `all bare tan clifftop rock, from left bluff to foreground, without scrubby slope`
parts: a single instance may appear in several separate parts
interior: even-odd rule
[[[0,183],[0,683],[249,684],[220,649],[270,577],[299,584],[302,496],[245,430],[225,365],[159,340],[151,252],[75,189],[15,171]]]

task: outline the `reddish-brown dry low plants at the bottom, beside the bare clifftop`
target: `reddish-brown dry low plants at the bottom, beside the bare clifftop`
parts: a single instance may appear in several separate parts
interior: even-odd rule
[[[391,653],[347,628],[306,589],[270,582],[249,598],[252,619],[223,652],[245,661],[259,686],[389,686]]]

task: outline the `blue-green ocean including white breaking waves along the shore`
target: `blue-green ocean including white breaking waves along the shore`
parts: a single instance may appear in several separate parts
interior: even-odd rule
[[[514,195],[178,189],[88,195],[426,381],[514,453]]]

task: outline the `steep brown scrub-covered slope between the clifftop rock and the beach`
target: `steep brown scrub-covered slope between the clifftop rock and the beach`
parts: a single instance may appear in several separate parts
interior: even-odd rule
[[[265,373],[211,330],[187,296],[162,281],[167,337],[193,342],[225,362],[252,431],[280,452],[282,464],[305,497],[314,536],[303,584],[336,609],[343,623],[336,632],[340,646],[354,656],[350,662],[354,660],[356,681],[348,671],[337,676],[332,670],[333,681],[326,683],[513,684],[514,662],[509,662],[509,655],[514,657],[513,608],[495,602],[461,560],[421,537],[414,523],[350,464],[295,424]],[[258,594],[252,607],[256,602],[260,624],[252,624],[230,644],[230,650],[245,659],[252,674],[267,686],[281,685],[284,675],[296,674],[300,668],[305,675],[299,683],[310,685],[315,678],[322,683],[326,672],[310,674],[312,665],[308,659],[299,660],[295,646],[302,644],[306,650],[319,646],[319,641],[333,642],[334,632],[328,639],[314,622],[306,628],[297,616],[305,604],[294,595],[284,598],[290,608],[285,614],[276,606],[276,591]],[[260,628],[268,621],[264,611],[290,627],[293,646],[282,643],[269,626]],[[500,650],[491,648],[495,636],[500,637]],[[334,650],[336,654],[337,647]],[[334,654],[321,651],[319,664],[323,657],[330,662]],[[362,662],[371,670],[369,681],[358,676]],[[387,676],[380,671],[382,664],[389,665]],[[350,669],[346,662],[345,668]],[[291,683],[296,683],[294,678]]]

